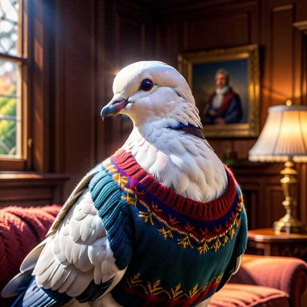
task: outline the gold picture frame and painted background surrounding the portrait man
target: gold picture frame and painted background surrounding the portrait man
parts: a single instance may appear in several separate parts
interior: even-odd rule
[[[207,137],[256,137],[259,134],[260,68],[258,45],[207,51],[185,52],[178,55],[178,70],[187,80]],[[226,69],[229,85],[238,92],[242,117],[235,123],[205,124],[206,112],[212,106],[215,73]],[[212,94],[212,95],[210,95]],[[203,120],[204,119],[204,120]]]

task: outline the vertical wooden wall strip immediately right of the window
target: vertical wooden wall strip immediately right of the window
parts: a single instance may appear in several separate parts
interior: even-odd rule
[[[30,2],[32,18],[30,31],[32,42],[32,78],[30,80],[30,138],[33,169],[49,172],[49,29],[50,8],[42,0]]]

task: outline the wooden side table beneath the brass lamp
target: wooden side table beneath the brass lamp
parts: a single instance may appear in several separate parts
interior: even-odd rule
[[[248,231],[247,253],[297,257],[307,262],[307,234],[276,235],[271,228],[253,229]]]

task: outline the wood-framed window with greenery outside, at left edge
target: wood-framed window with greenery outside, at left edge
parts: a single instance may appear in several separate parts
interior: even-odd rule
[[[26,0],[0,0],[0,170],[24,169],[27,155],[26,8]]]

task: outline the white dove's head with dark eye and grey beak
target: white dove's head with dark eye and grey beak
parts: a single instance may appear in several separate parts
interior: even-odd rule
[[[179,123],[202,128],[191,90],[183,76],[159,61],[140,61],[121,69],[113,83],[114,97],[101,117],[126,114],[135,126]]]

